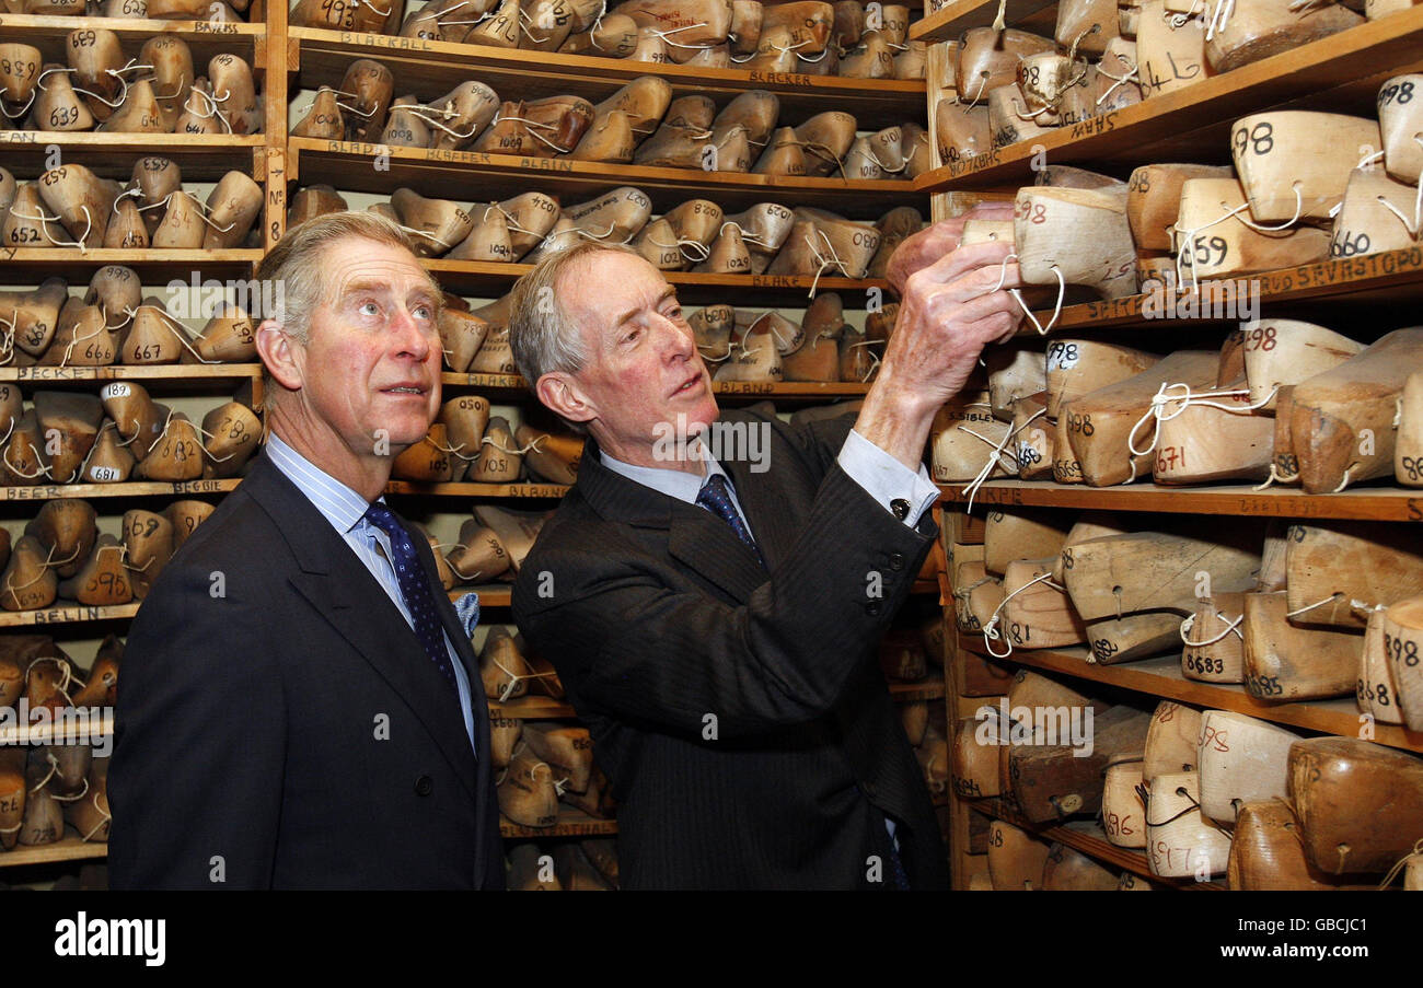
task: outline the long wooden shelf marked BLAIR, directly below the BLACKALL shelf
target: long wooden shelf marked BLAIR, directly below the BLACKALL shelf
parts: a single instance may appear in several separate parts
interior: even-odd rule
[[[694,168],[605,165],[566,158],[521,158],[477,151],[387,148],[379,144],[289,138],[289,178],[303,185],[326,183],[342,192],[390,195],[408,186],[427,196],[454,190],[477,193],[481,202],[507,199],[529,189],[558,196],[565,206],[592,199],[610,185],[632,185],[652,199],[653,212],[665,213],[693,198],[712,199],[729,212],[758,202],[793,199],[800,206],[820,206],[858,219],[878,219],[895,206],[922,206],[924,195],[904,179],[868,181],[797,178],[741,172],[704,172]],[[388,151],[388,169],[374,168],[376,155]]]

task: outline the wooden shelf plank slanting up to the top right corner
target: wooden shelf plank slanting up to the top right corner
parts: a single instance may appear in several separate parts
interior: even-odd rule
[[[1010,0],[1010,4],[1012,6]],[[993,0],[970,0],[926,17],[979,6],[992,18]],[[911,30],[912,37],[918,37]],[[915,179],[921,192],[1032,183],[1035,149],[1057,165],[1124,172],[1161,161],[1229,161],[1229,127],[1248,114],[1288,107],[1375,117],[1379,85],[1423,67],[1423,7],[1412,7],[1339,34],[1158,94],[1030,141],[948,162]]]

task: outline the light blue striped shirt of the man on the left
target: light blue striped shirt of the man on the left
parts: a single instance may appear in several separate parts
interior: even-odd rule
[[[336,533],[356,553],[356,559],[370,570],[370,574],[376,577],[376,583],[386,591],[391,603],[400,608],[406,624],[414,628],[416,623],[410,617],[410,608],[406,607],[406,596],[400,593],[396,570],[390,564],[390,537],[366,520],[366,509],[370,508],[370,503],[330,473],[312,463],[306,456],[292,449],[292,446],[282,442],[276,432],[268,436],[266,455],[272,459],[272,465],[282,471],[286,479],[295,483],[296,489],[306,495],[306,499],[312,502],[316,510],[332,523]],[[379,500],[384,503],[386,499],[380,498]],[[434,593],[444,593],[438,587],[433,587],[431,590]],[[444,638],[445,648],[450,650],[450,664],[454,667],[455,684],[460,687],[460,711],[464,714],[464,731],[470,735],[470,746],[474,748],[474,708],[470,701],[470,677],[464,671],[464,662],[460,661],[460,653],[451,644],[450,635],[447,634]]]

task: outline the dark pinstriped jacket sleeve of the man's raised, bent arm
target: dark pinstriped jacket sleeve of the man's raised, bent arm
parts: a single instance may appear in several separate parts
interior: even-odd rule
[[[790,556],[744,606],[670,587],[643,553],[554,539],[522,567],[515,620],[575,707],[689,739],[710,739],[713,724],[719,741],[751,738],[831,709],[933,535],[932,520],[904,525],[832,465]],[[552,577],[544,597],[539,571]]]

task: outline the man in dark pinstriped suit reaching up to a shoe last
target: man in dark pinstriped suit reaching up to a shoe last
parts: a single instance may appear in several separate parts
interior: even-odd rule
[[[936,535],[933,414],[1017,326],[1006,254],[916,274],[858,418],[810,428],[721,417],[676,293],[630,252],[576,247],[515,287],[519,370],[589,442],[514,616],[613,783],[623,887],[946,887],[875,653]]]

